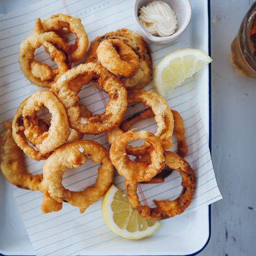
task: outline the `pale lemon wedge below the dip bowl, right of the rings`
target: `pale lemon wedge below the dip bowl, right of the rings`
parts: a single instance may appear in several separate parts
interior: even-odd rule
[[[164,96],[211,61],[211,57],[197,49],[180,49],[172,52],[158,63],[154,87],[161,96]]]

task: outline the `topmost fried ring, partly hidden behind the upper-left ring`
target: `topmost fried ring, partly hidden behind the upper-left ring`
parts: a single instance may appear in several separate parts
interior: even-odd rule
[[[64,28],[66,30],[64,31]],[[53,31],[59,36],[67,32],[74,33],[76,40],[74,45],[69,46],[69,54],[72,61],[80,60],[88,47],[89,41],[87,33],[81,24],[80,18],[75,18],[67,14],[56,14],[48,19],[37,18],[34,27],[34,33],[44,33]]]

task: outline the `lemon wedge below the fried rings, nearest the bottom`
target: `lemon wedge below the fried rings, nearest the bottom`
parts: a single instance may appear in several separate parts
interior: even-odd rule
[[[123,238],[141,239],[153,234],[160,222],[140,217],[132,209],[128,198],[120,189],[112,185],[102,200],[102,217],[106,225]]]

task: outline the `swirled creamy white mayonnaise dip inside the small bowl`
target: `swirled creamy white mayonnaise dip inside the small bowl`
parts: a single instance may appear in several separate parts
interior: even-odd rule
[[[148,33],[156,36],[172,35],[177,28],[176,13],[163,1],[141,7],[139,21]]]

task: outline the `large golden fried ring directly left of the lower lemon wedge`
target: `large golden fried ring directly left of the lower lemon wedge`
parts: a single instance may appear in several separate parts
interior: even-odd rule
[[[100,162],[95,185],[82,191],[71,191],[63,187],[61,183],[63,172],[68,168],[80,167],[88,160],[87,155],[93,159],[93,163]],[[43,174],[42,212],[51,211],[51,205],[48,205],[50,196],[59,203],[67,201],[71,205],[79,207],[80,213],[83,213],[89,205],[101,198],[111,186],[114,178],[114,166],[109,158],[109,152],[102,145],[95,141],[81,140],[59,147],[45,162]]]

